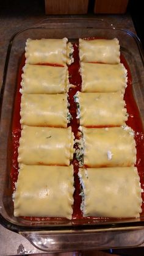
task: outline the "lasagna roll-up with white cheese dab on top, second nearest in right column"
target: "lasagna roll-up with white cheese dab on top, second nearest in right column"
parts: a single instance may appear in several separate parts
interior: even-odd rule
[[[82,128],[83,137],[76,150],[86,167],[133,166],[136,161],[134,132],[128,126]],[[77,142],[77,141],[76,141]]]

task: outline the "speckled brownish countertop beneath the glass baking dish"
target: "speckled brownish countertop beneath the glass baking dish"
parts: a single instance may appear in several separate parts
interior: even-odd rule
[[[80,16],[61,16],[63,18],[79,18]],[[2,85],[2,76],[4,70],[5,56],[7,53],[7,46],[9,45],[10,37],[13,34],[24,29],[26,27],[32,26],[39,23],[45,18],[56,19],[57,16],[48,16],[45,14],[40,15],[18,15],[11,13],[10,15],[2,14],[0,16],[0,88]],[[88,16],[83,15],[81,18],[88,18]],[[91,15],[90,18],[103,18],[109,24],[113,24],[115,27],[120,27],[128,29],[135,32],[134,25],[129,14],[126,15]],[[16,254],[40,254],[41,251],[32,246],[32,244],[27,241],[23,236],[13,233],[4,227],[0,226],[0,255],[16,255]],[[43,252],[45,253],[45,252]],[[56,254],[49,254],[56,255]],[[66,254],[67,255],[67,254]],[[73,255],[73,254],[68,254]],[[75,254],[76,255],[76,254]]]

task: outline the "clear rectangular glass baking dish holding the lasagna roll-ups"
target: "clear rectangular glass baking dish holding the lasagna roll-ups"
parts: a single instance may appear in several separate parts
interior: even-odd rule
[[[12,186],[10,184],[10,154],[12,151],[12,116],[18,69],[27,38],[63,38],[71,42],[84,37],[114,38],[120,41],[121,53],[132,75],[132,90],[144,125],[144,58],[139,38],[130,31],[117,29],[103,20],[44,20],[13,35],[5,60],[1,90],[0,133],[0,221],[7,229],[24,235],[44,251],[72,251],[129,247],[144,241],[144,216],[138,219],[117,219],[103,222],[87,219],[27,221],[13,216]]]

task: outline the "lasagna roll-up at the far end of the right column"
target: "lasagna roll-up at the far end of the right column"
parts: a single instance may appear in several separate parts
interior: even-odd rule
[[[120,63],[120,45],[117,38],[84,40],[79,39],[81,62]]]

